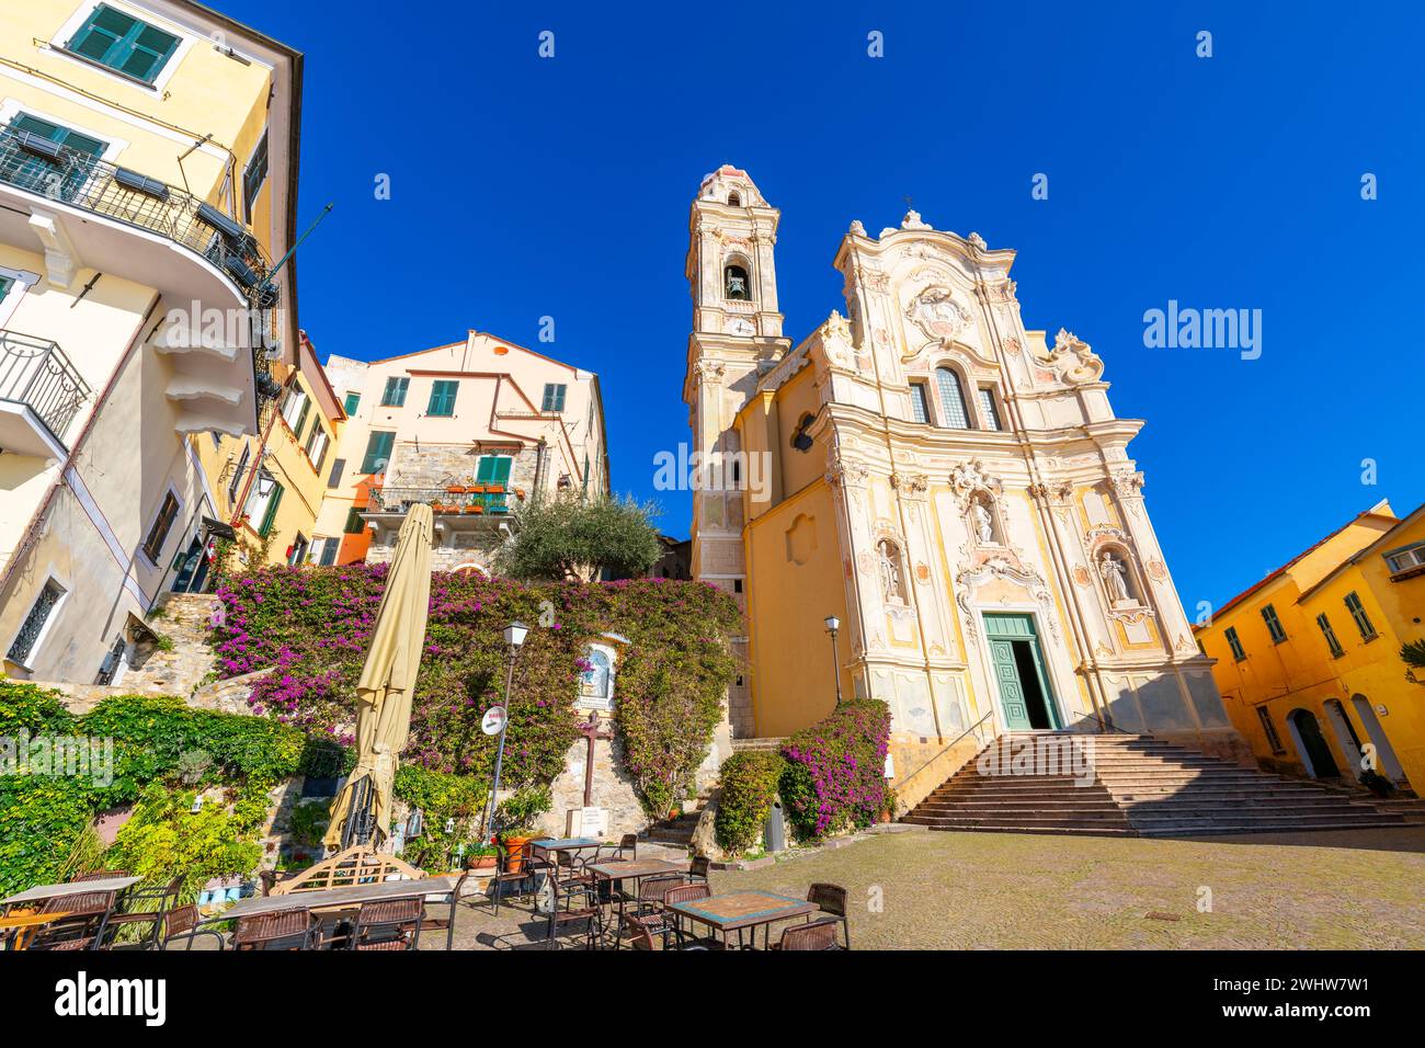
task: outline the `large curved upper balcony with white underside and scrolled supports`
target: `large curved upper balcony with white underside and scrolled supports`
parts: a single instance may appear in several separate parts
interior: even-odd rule
[[[256,432],[276,382],[252,321],[278,305],[272,267],[252,234],[191,192],[41,138],[0,130],[0,242],[44,255],[51,285],[78,271],[158,288],[170,308],[218,309],[241,322],[221,344],[164,342],[180,432]],[[207,321],[204,321],[207,324]]]

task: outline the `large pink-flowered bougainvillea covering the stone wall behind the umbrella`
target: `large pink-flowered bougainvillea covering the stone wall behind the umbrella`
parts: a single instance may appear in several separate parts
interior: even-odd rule
[[[271,669],[252,711],[351,744],[355,686],[385,586],[385,565],[262,567],[225,577],[211,644],[222,677]],[[579,737],[571,706],[589,643],[618,650],[614,723],[624,767],[661,814],[701,763],[737,673],[732,599],[705,583],[634,579],[519,583],[436,572],[403,761],[487,777],[484,711],[504,702],[503,630],[530,626],[514,669],[502,780],[550,781]],[[624,643],[627,642],[627,643]],[[661,808],[661,811],[660,811]]]

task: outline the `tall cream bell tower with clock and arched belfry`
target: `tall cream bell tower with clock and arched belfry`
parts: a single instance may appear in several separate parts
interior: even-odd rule
[[[712,463],[741,451],[734,419],[761,375],[791,348],[777,308],[779,218],[747,171],[731,164],[705,175],[693,201],[685,265],[693,334],[683,399],[695,462]],[[738,475],[724,468],[710,476],[722,486],[693,492],[693,577],[727,590],[745,612],[744,499],[728,486]],[[747,476],[745,465],[741,476]],[[755,734],[750,689],[728,690],[728,716],[734,734]]]

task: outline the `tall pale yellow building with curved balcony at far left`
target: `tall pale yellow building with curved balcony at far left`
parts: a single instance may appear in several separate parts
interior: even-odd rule
[[[115,683],[158,596],[197,585],[227,448],[298,364],[275,267],[301,81],[301,54],[188,0],[4,6],[6,673]]]

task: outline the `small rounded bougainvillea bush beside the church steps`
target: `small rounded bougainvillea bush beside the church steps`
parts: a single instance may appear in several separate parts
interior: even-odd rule
[[[891,709],[875,699],[842,703],[782,743],[781,796],[798,838],[869,826],[885,807]]]

